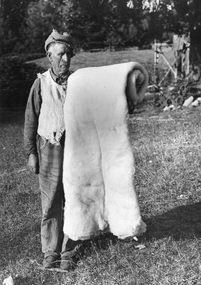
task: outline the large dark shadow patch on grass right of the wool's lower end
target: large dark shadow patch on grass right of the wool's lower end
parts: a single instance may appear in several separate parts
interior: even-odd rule
[[[145,219],[146,240],[172,237],[175,241],[201,237],[201,202],[181,205]]]

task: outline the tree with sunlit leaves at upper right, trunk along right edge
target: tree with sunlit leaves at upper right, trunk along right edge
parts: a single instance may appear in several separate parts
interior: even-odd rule
[[[136,1],[127,2],[133,8]],[[201,66],[201,1],[200,0],[143,0],[142,8],[154,14],[155,23],[163,20],[162,30],[177,34],[190,33],[190,62],[193,73],[200,77]]]

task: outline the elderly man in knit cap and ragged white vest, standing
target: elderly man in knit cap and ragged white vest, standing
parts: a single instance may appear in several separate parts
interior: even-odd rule
[[[25,112],[24,148],[29,169],[39,174],[42,202],[41,242],[45,268],[69,270],[76,263],[79,241],[72,241],[62,231],[64,191],[62,165],[65,141],[63,103],[74,40],[53,29],[45,42],[52,68],[35,80]]]

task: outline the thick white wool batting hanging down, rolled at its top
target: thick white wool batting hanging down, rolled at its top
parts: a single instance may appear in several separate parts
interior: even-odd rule
[[[146,231],[135,191],[126,93],[136,104],[147,86],[148,74],[135,62],[78,69],[68,79],[63,231],[72,240],[99,231],[120,238]]]

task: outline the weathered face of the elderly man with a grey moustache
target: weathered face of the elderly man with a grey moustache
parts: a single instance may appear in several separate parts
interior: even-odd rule
[[[53,72],[59,76],[65,75],[71,63],[71,48],[66,44],[56,43],[47,52],[47,57],[52,63]]]

